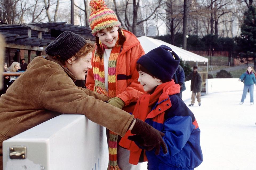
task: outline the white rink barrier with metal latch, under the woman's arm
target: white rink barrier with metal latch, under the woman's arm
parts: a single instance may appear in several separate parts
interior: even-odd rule
[[[10,150],[26,147],[25,159]],[[60,115],[3,141],[4,170],[105,170],[106,128],[84,115]]]

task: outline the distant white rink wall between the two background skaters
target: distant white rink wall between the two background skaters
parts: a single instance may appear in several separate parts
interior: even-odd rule
[[[206,79],[206,94],[225,91],[243,91],[243,82],[239,78]]]

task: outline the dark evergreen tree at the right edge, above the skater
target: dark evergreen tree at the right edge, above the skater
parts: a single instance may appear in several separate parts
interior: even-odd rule
[[[253,58],[256,68],[256,10],[250,5],[245,12],[241,35],[237,38],[238,54],[240,57]]]

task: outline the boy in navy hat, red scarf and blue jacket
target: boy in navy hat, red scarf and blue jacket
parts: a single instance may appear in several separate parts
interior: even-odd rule
[[[179,84],[172,80],[179,62],[178,55],[165,45],[149,51],[137,61],[138,81],[146,93],[139,98],[133,114],[165,134],[167,153],[162,149],[145,152],[143,139],[129,136],[132,164],[145,161],[145,156],[149,170],[187,170],[202,163],[200,129],[194,114],[178,96]]]

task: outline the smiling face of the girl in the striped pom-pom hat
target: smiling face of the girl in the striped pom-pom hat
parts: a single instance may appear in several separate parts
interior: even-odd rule
[[[107,29],[100,30],[96,36],[99,37],[99,40],[106,46],[112,48],[115,46],[115,43],[118,39],[118,30],[119,27],[110,27]]]

